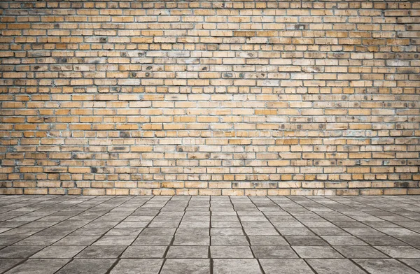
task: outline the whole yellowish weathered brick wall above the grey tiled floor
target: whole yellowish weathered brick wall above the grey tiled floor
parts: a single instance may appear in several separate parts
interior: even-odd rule
[[[0,194],[420,194],[419,1],[0,6]]]

